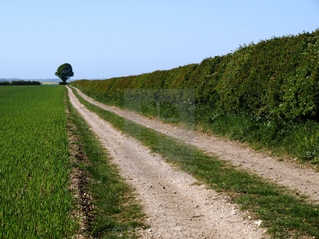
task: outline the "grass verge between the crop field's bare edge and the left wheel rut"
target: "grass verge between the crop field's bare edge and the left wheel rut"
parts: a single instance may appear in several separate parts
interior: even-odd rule
[[[87,192],[93,196],[97,209],[95,220],[88,228],[90,234],[98,238],[137,238],[136,231],[144,226],[142,206],[135,200],[133,189],[119,176],[116,165],[110,163],[110,156],[85,120],[73,108],[68,95],[66,97],[71,120],[77,127],[77,131],[72,133],[80,136],[78,143],[82,144],[90,161],[90,164],[74,165],[92,175]]]

